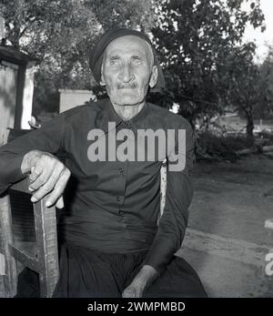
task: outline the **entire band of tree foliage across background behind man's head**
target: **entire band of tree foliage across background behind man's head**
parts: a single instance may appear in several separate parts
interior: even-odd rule
[[[258,0],[0,0],[0,12],[8,42],[40,59],[36,112],[57,110],[59,88],[94,85],[90,50],[114,25],[151,29],[167,90],[149,101],[162,107],[177,103],[179,114],[193,126],[197,117],[213,117],[227,106],[236,105],[245,115],[271,108],[268,100],[256,102],[254,91],[259,95],[262,86],[256,87],[255,80],[265,85],[272,79],[272,62],[257,69],[255,46],[242,44],[247,24],[264,28]]]

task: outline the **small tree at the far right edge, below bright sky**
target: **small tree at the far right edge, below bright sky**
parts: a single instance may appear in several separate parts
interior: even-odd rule
[[[262,65],[254,62],[255,46],[248,43],[235,47],[226,59],[227,104],[247,118],[247,133],[253,137],[254,119],[269,114],[272,106],[272,66],[269,60]]]

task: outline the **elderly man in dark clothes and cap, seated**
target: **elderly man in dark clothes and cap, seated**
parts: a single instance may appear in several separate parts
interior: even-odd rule
[[[194,141],[183,117],[146,101],[149,89],[164,86],[151,42],[134,30],[108,31],[90,66],[109,99],[68,110],[1,148],[0,189],[29,175],[33,202],[47,195],[48,205],[65,207],[54,296],[206,297],[196,272],[174,256],[187,227]],[[140,146],[140,131],[174,138]],[[164,158],[166,204],[157,222]],[[35,283],[25,270],[18,296],[35,296]]]

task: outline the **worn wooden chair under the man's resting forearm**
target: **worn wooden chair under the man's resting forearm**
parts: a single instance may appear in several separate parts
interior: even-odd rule
[[[8,190],[30,194],[29,179],[17,182]],[[30,199],[30,196],[29,196]],[[5,291],[14,297],[17,289],[17,263],[39,274],[41,297],[51,297],[58,280],[58,252],[56,234],[56,208],[46,208],[45,199],[33,204],[35,218],[35,245],[16,241],[12,225],[12,209],[9,194],[0,198],[1,249],[5,256]],[[18,262],[17,262],[18,261]]]

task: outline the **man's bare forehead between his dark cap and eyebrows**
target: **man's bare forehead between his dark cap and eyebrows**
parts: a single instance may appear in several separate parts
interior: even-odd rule
[[[149,44],[138,36],[121,36],[106,46],[106,56],[138,54],[148,56]]]

